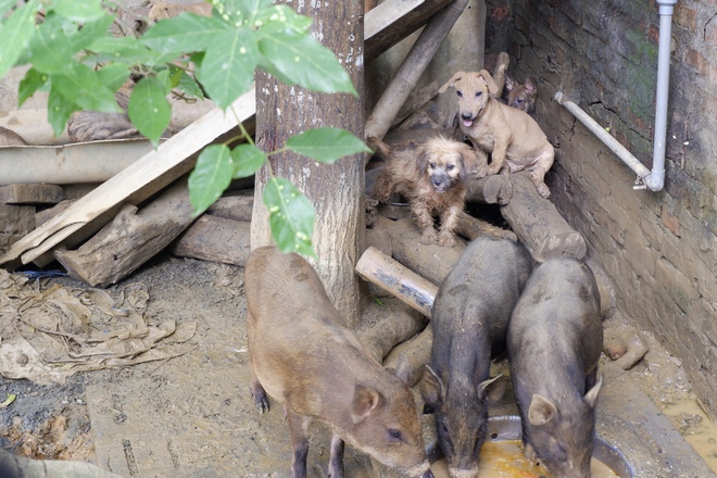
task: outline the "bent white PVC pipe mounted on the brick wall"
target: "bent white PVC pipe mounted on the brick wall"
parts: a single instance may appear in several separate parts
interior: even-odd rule
[[[672,39],[672,11],[677,0],[657,0],[659,5],[659,46],[657,52],[657,92],[655,100],[655,135],[653,139],[652,171],[647,169],[630,151],[620,144],[605,128],[573,101],[565,99],[562,91],[555,101],[605,143],[625,164],[638,174],[634,189],[650,188],[659,191],[665,186],[665,141],[667,138],[667,97],[669,92],[669,56]]]

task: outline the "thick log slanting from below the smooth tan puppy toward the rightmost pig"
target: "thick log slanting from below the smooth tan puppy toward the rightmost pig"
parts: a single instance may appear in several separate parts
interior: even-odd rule
[[[510,178],[513,197],[501,206],[501,213],[532,257],[538,262],[565,254],[584,257],[584,238],[565,222],[552,202],[538,194],[530,173],[513,173]]]

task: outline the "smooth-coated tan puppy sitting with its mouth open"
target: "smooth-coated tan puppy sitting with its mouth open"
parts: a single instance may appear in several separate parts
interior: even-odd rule
[[[498,86],[485,70],[474,73],[458,72],[439,92],[455,88],[458,97],[461,129],[476,150],[491,153],[488,174],[501,171],[531,172],[538,193],[550,196],[543,178],[553,165],[555,151],[538,123],[526,112],[508,106],[491,97]]]

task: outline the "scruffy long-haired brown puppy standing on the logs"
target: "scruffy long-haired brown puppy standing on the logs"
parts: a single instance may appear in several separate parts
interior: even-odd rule
[[[422,243],[438,240],[440,246],[454,246],[454,231],[466,198],[464,179],[468,174],[485,176],[486,160],[481,164],[468,144],[442,136],[428,139],[415,151],[391,152],[388,144],[374,137],[368,138],[368,146],[386,159],[372,199],[388,202],[391,194],[401,194],[411,204]],[[433,228],[433,211],[441,218],[438,234]]]

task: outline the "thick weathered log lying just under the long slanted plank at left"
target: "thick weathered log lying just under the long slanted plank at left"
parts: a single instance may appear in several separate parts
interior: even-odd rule
[[[139,210],[125,204],[114,219],[76,251],[58,249],[54,257],[71,277],[106,287],[166,248],[193,221],[186,178]]]

